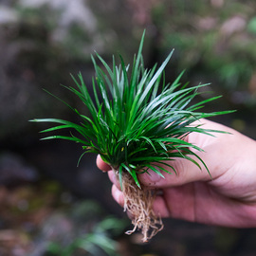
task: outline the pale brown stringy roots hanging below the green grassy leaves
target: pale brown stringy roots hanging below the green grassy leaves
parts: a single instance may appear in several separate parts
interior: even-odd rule
[[[118,177],[119,173],[116,172],[116,175]],[[142,241],[148,242],[158,231],[163,229],[160,216],[157,216],[153,210],[155,191],[146,187],[139,189],[132,176],[123,172],[122,192],[124,197],[123,210],[127,210],[132,215],[132,224],[134,225],[134,229],[125,233],[130,235],[140,229],[143,235]]]

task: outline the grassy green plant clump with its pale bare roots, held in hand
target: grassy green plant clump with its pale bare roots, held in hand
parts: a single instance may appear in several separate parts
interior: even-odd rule
[[[145,68],[143,42],[144,33],[132,65],[124,64],[119,56],[119,65],[113,57],[113,65],[110,66],[96,53],[100,66],[92,56],[96,72],[92,79],[92,96],[81,73],[78,79],[72,77],[76,88],[64,86],[84,103],[90,113],[85,116],[64,102],[81,122],[74,123],[64,119],[33,121],[57,123],[42,133],[63,129],[72,131],[70,136],[54,135],[43,139],[72,140],[82,144],[82,155],[87,152],[101,155],[119,178],[124,195],[124,210],[128,210],[134,217],[134,229],[127,233],[141,229],[143,241],[146,242],[163,228],[163,224],[153,210],[155,192],[143,187],[137,175],[152,170],[164,178],[162,172],[171,174],[167,169],[175,174],[174,167],[167,161],[176,157],[192,161],[198,168],[200,163],[206,167],[203,160],[194,153],[194,150],[200,152],[202,149],[183,138],[192,132],[207,135],[216,132],[193,125],[193,122],[229,111],[199,111],[205,103],[219,97],[192,103],[194,97],[202,93],[199,89],[207,84],[192,87],[182,85],[182,73],[173,83],[165,82],[163,72],[173,51],[159,67],[155,64],[151,69]]]

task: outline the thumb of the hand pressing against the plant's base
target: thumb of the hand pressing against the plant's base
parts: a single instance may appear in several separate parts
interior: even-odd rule
[[[194,159],[198,162],[198,159]],[[201,168],[199,168],[192,161],[184,158],[175,158],[166,162],[171,167],[164,164],[155,165],[155,169],[158,170],[164,177],[156,174],[153,170],[148,170],[147,173],[139,175],[139,181],[141,184],[149,187],[164,188],[170,186],[181,186],[194,181],[210,181],[211,177],[204,164],[198,162]],[[171,174],[163,172],[157,166],[166,169]]]

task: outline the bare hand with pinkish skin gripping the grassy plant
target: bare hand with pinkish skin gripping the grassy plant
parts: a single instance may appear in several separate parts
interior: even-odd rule
[[[230,133],[215,133],[214,137],[192,133],[186,137],[204,150],[196,154],[206,163],[211,177],[202,164],[199,170],[191,161],[180,158],[170,161],[177,175],[163,173],[165,178],[162,178],[153,171],[149,171],[150,175],[140,174],[141,184],[159,191],[155,213],[210,225],[255,228],[256,141],[208,119],[201,119],[200,123],[204,123],[205,129]],[[108,172],[113,182],[112,195],[122,206],[119,181],[100,155],[97,165]]]

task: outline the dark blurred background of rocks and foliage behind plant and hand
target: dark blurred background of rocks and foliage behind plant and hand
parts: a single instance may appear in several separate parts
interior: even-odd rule
[[[43,89],[76,107],[61,84],[82,72],[90,87],[96,50],[133,61],[143,30],[145,65],[161,63],[169,82],[210,82],[223,98],[207,111],[256,138],[255,0],[1,0],[0,1],[0,255],[215,256],[256,254],[255,229],[223,229],[164,220],[148,244],[130,229],[111,197],[96,155],[67,141],[39,141],[34,118],[72,120]],[[84,110],[85,111],[85,110]],[[44,127],[43,127],[44,126]]]

